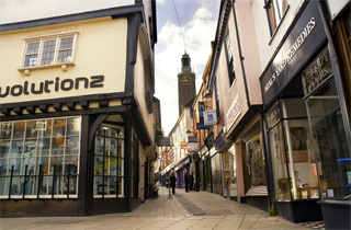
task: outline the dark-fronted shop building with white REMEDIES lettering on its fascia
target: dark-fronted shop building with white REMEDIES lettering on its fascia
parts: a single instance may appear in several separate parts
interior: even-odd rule
[[[257,26],[270,198],[291,221],[350,228],[348,77],[342,56],[336,58],[327,2],[276,3],[265,1],[265,14],[252,3],[254,23],[265,15],[270,27]]]

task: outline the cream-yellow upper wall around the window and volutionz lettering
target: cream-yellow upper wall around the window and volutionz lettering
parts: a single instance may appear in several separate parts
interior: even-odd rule
[[[36,69],[25,76],[18,69],[21,67],[23,57],[24,39],[32,36],[42,36],[55,33],[78,32],[78,39],[75,49],[75,66],[63,71],[60,67],[47,69]],[[125,85],[126,66],[126,39],[127,20],[101,18],[86,20],[75,23],[63,23],[58,25],[42,26],[30,30],[18,30],[0,34],[0,87],[1,93],[7,85],[24,84],[27,81],[31,85],[45,80],[55,81],[78,77],[104,76],[103,88],[84,89],[55,92],[50,85],[49,93],[19,95],[8,95],[1,97],[1,104],[16,103],[37,100],[49,100],[67,96],[79,96],[88,94],[123,92]]]

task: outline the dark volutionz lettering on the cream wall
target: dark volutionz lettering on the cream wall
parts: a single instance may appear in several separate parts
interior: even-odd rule
[[[93,88],[103,88],[104,76],[91,76],[90,78],[79,77],[76,79],[60,79],[57,77],[55,81],[45,80],[37,83],[30,83],[24,81],[23,84],[14,84],[0,87],[0,97],[31,95],[31,94],[44,94],[52,91],[70,91]]]

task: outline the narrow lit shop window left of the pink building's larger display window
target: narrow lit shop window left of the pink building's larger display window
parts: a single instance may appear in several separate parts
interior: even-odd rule
[[[223,153],[223,169],[226,193],[230,193],[230,196],[237,196],[237,171],[234,146]]]

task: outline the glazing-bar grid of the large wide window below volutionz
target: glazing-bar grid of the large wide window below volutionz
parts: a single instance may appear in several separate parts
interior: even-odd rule
[[[63,120],[63,119],[65,119],[64,134],[61,136],[57,136],[57,135],[54,134],[54,129],[55,129],[54,124],[56,122]],[[68,120],[69,119],[76,119],[79,123],[79,130],[78,130],[77,134],[70,134],[69,133],[69,129],[68,129],[68,126],[69,126]],[[50,122],[50,125],[49,125],[50,129],[49,129],[49,131],[47,134],[39,133],[41,130],[36,129],[36,128],[41,128],[41,127],[45,127],[45,129],[46,129],[46,125],[47,125],[48,122]],[[44,126],[36,126],[36,128],[33,129],[33,130],[36,130],[35,136],[27,136],[30,134],[29,133],[29,127],[32,128],[32,126],[29,126],[29,123],[44,124]],[[16,128],[15,126],[18,124],[22,124],[23,125],[23,136],[15,136],[16,135],[15,134],[15,128]],[[78,193],[79,193],[79,191],[78,191],[79,186],[78,185],[79,185],[79,176],[80,176],[79,175],[79,171],[80,171],[80,148],[81,148],[80,147],[80,142],[81,142],[81,116],[64,116],[64,117],[50,117],[50,118],[37,118],[37,119],[23,119],[23,120],[2,122],[0,128],[2,129],[3,126],[11,127],[11,130],[9,129],[10,134],[9,134],[8,137],[5,137],[5,138],[1,137],[0,140],[2,142],[9,140],[11,145],[9,146],[9,151],[7,152],[8,156],[7,157],[2,156],[2,158],[0,158],[0,160],[5,162],[5,168],[7,168],[5,171],[4,171],[4,175],[0,176],[0,179],[4,177],[4,180],[5,180],[4,181],[4,183],[5,183],[4,185],[5,186],[3,188],[2,187],[0,188],[0,189],[3,189],[3,194],[0,195],[0,199],[26,199],[26,198],[30,198],[30,199],[38,199],[38,198],[50,198],[50,199],[59,198],[59,199],[61,199],[61,198],[66,198],[67,199],[67,198],[77,198],[78,197]],[[44,135],[44,136],[41,136],[41,135]],[[45,135],[48,135],[48,136],[45,136]],[[63,139],[64,143],[61,143],[61,145],[57,143],[57,145],[58,146],[63,146],[63,147],[65,146],[64,149],[61,149],[61,153],[60,154],[54,153],[54,150],[55,150],[54,139],[55,138],[57,139],[58,137],[63,137],[64,138]],[[72,139],[72,138],[78,138],[77,148],[76,148],[78,150],[77,154],[67,152],[67,147],[66,146],[69,145],[69,143],[66,143],[66,141],[69,140],[69,139]],[[43,152],[45,151],[44,148],[39,148],[39,146],[42,146],[44,143],[43,141],[45,141],[45,139],[47,139],[48,142],[49,142],[49,149],[48,149],[47,156],[43,154]],[[33,156],[25,156],[26,152],[25,152],[25,150],[23,150],[23,149],[25,149],[25,143],[26,142],[33,142],[33,141],[35,141],[34,157]],[[13,153],[13,151],[12,151],[13,142],[21,143],[20,148],[22,148],[22,150],[20,150],[21,153],[18,157],[13,157],[12,156],[12,153]],[[59,148],[61,148],[61,147],[59,147]],[[70,147],[68,147],[68,148],[70,148]],[[69,159],[71,157],[73,157],[73,158],[77,157],[76,173],[71,173],[71,171],[69,171],[68,174],[65,174],[66,166],[68,166],[68,169],[70,169],[70,165],[71,165],[69,163],[66,164],[66,159]],[[59,159],[59,158],[63,158],[64,159],[64,164],[57,164],[56,162],[52,162],[52,161],[55,160],[53,158],[55,158],[56,160]],[[34,191],[32,194],[26,194],[26,192],[25,192],[25,194],[21,193],[23,189],[26,188],[25,185],[24,185],[24,188],[20,187],[19,194],[10,194],[9,195],[8,185],[10,183],[10,181],[12,181],[11,180],[12,176],[11,176],[11,172],[10,172],[11,171],[10,161],[13,160],[13,159],[14,160],[20,160],[19,161],[20,162],[19,174],[14,174],[13,177],[19,177],[19,182],[21,183],[23,177],[24,177],[24,180],[30,180],[31,176],[32,176],[33,181],[31,183],[32,183],[33,191]],[[33,169],[33,173],[34,174],[33,175],[26,174],[27,168],[25,166],[24,162],[27,161],[27,160],[30,160],[30,161],[33,160],[33,162],[34,162],[34,169]],[[48,166],[47,169],[45,169],[45,165],[44,165],[44,168],[42,168],[43,166],[42,163],[41,164],[37,163],[38,161],[43,162],[43,160],[44,161],[45,160],[49,160],[48,163],[47,163],[47,166]],[[58,169],[58,171],[59,171],[59,169],[61,169],[61,173],[59,173],[57,171],[55,173],[55,169],[54,169],[54,171],[52,171],[52,166],[53,165],[59,165],[59,168],[56,168],[56,169]],[[25,169],[24,173],[23,173],[23,169]],[[47,170],[47,173],[45,173],[45,170]],[[50,176],[53,176],[52,180],[56,179],[57,181],[49,182],[50,181]],[[68,181],[66,181],[65,179],[67,179]],[[9,182],[8,182],[8,180],[9,180]],[[75,184],[73,184],[73,187],[76,188],[76,189],[73,189],[75,193],[66,193],[65,194],[65,191],[66,191],[65,187],[64,187],[65,183],[66,182],[70,183],[70,180],[75,181]],[[45,182],[45,181],[46,181],[46,183],[45,183],[44,186],[45,186],[45,189],[46,189],[47,194],[39,194],[38,193],[39,191],[37,188],[39,187],[39,185],[43,186],[42,183]],[[38,183],[41,183],[41,184],[38,185]],[[49,183],[52,183],[52,184],[49,184]],[[58,192],[58,193],[55,193],[55,194],[50,193],[50,192],[53,192],[54,188],[53,188],[53,186],[50,187],[49,185],[53,185],[53,184],[54,184],[54,186],[58,185],[58,187],[55,186],[55,191]]]

